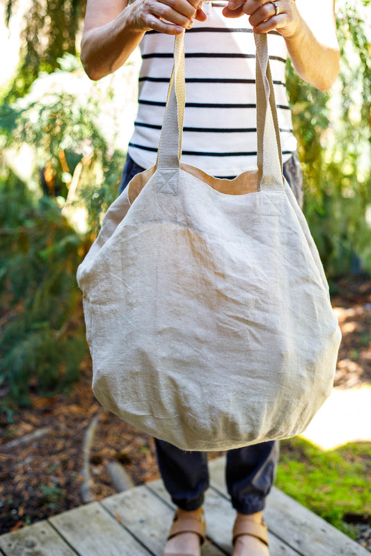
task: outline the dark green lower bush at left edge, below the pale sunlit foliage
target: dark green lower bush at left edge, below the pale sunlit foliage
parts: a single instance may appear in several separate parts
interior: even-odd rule
[[[0,181],[0,382],[8,401],[53,393],[79,377],[86,354],[75,273],[83,245],[48,197],[12,172]]]

